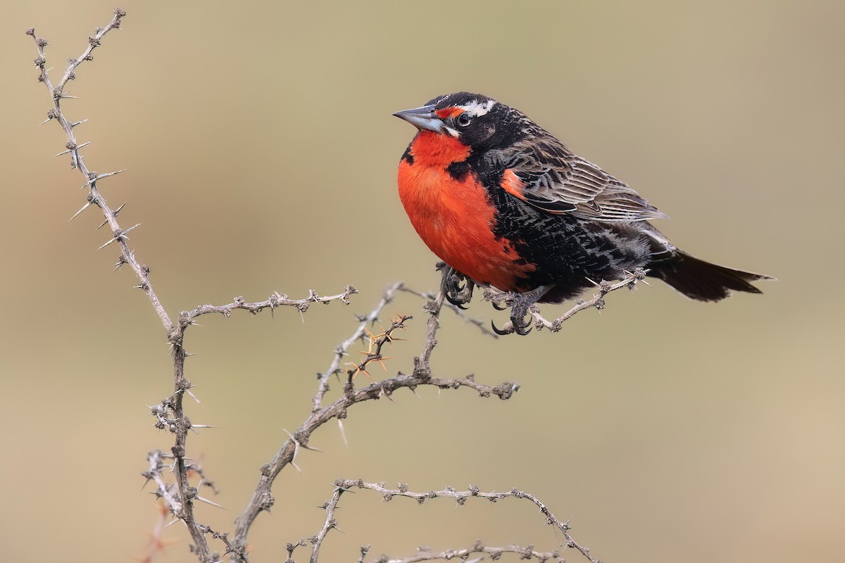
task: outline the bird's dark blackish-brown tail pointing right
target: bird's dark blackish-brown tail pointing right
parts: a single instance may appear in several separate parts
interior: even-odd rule
[[[750,282],[774,279],[761,273],[717,266],[681,251],[675,251],[666,262],[650,264],[649,268],[648,275],[660,278],[687,297],[700,301],[722,300],[731,295],[731,290],[762,293]]]

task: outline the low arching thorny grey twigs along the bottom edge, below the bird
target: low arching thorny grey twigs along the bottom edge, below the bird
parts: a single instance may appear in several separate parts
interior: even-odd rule
[[[577,549],[581,552],[581,555],[584,555],[591,563],[601,563],[599,560],[593,559],[590,555],[590,548],[578,544],[575,539],[572,538],[570,535],[570,524],[569,522],[562,522],[557,517],[555,517],[552,512],[548,509],[546,505],[544,505],[541,501],[537,499],[536,496],[532,495],[531,493],[526,493],[525,491],[518,490],[516,488],[511,489],[507,492],[497,493],[493,492],[482,492],[478,488],[478,485],[470,485],[467,490],[456,490],[452,487],[446,487],[444,490],[428,490],[422,493],[416,493],[411,490],[408,490],[408,485],[400,484],[397,489],[388,489],[384,486],[384,483],[366,483],[363,479],[337,479],[335,481],[335,490],[332,492],[331,498],[328,501],[323,503],[323,508],[325,510],[325,520],[323,523],[322,528],[320,528],[319,533],[316,535],[308,538],[308,541],[311,542],[313,548],[311,550],[311,563],[316,563],[317,557],[319,556],[319,549],[323,544],[323,541],[326,537],[326,534],[332,528],[337,528],[337,522],[335,521],[335,510],[337,508],[338,503],[341,500],[341,495],[345,493],[347,490],[352,489],[365,489],[365,490],[373,490],[379,495],[382,495],[384,501],[390,501],[395,496],[406,496],[408,498],[412,498],[416,500],[419,504],[423,504],[428,499],[436,499],[436,498],[449,498],[454,500],[458,506],[463,506],[466,504],[466,501],[472,498],[477,499],[486,499],[488,501],[497,502],[502,499],[506,498],[515,498],[515,499],[526,499],[527,501],[531,501],[534,503],[537,508],[540,509],[540,513],[543,517],[546,518],[546,523],[553,526],[556,531],[559,531],[563,534],[565,545],[567,548],[570,549]],[[297,544],[288,544],[288,560],[286,563],[292,562],[292,552],[293,549],[296,549],[297,545],[304,545],[304,541],[300,540]],[[363,557],[367,554],[369,550],[369,546],[362,547],[362,560]],[[528,545],[526,547],[520,547],[517,545],[509,545],[506,547],[488,547],[481,543],[481,541],[477,541],[470,548],[466,549],[449,549],[443,552],[433,552],[429,549],[420,549],[417,555],[412,555],[411,557],[407,557],[404,559],[397,559],[391,560],[386,555],[382,555],[379,559],[375,560],[377,563],[410,563],[412,561],[424,561],[424,560],[448,560],[458,557],[461,560],[466,560],[466,557],[475,553],[486,553],[491,556],[493,560],[499,559],[499,557],[504,553],[515,553],[521,555],[522,559],[531,559],[532,557],[536,557],[540,561],[547,561],[547,560],[563,560],[563,556],[560,554],[559,550],[554,550],[551,552],[539,552],[533,549],[532,545]]]

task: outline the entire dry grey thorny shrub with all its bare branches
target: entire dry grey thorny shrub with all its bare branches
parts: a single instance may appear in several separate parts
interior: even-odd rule
[[[444,307],[455,311],[455,313],[465,322],[471,322],[476,325],[484,333],[492,335],[494,338],[496,334],[488,331],[482,326],[481,321],[473,320],[461,311],[461,306],[456,306],[455,302],[449,299],[449,302],[444,301],[448,299],[450,279],[447,272],[450,268],[441,268],[442,280],[440,290],[438,292],[419,292],[407,288],[404,284],[393,284],[384,290],[379,303],[369,311],[366,315],[357,317],[357,328],[352,331],[349,338],[338,345],[330,361],[329,368],[318,375],[317,390],[311,398],[312,408],[307,419],[303,421],[297,430],[289,433],[289,439],[286,440],[275,456],[261,468],[261,475],[259,482],[255,486],[252,498],[244,507],[243,512],[234,522],[234,530],[232,533],[221,533],[211,529],[209,526],[201,523],[196,517],[196,502],[205,502],[207,504],[218,506],[213,501],[204,498],[199,494],[199,490],[203,487],[216,492],[215,485],[207,479],[204,469],[201,465],[190,459],[188,452],[188,431],[200,428],[208,428],[209,425],[197,425],[191,422],[186,413],[184,406],[184,397],[187,394],[194,398],[191,382],[185,376],[185,359],[188,354],[184,348],[184,338],[188,327],[192,326],[197,317],[210,313],[219,313],[225,317],[230,317],[233,311],[244,310],[253,314],[258,314],[261,311],[269,310],[272,314],[275,308],[280,306],[291,306],[297,309],[301,314],[308,311],[308,306],[312,303],[330,303],[332,301],[340,301],[349,304],[350,297],[357,293],[357,290],[352,285],[346,285],[343,291],[335,295],[322,296],[315,291],[310,291],[307,297],[302,299],[291,299],[287,295],[281,293],[273,293],[270,298],[264,301],[248,302],[243,297],[236,297],[232,303],[221,306],[203,305],[195,307],[190,311],[181,311],[177,315],[177,320],[174,322],[172,317],[164,306],[161,304],[158,295],[153,289],[153,284],[150,280],[150,268],[144,263],[141,263],[136,257],[132,248],[129,246],[128,233],[135,230],[140,224],[134,225],[127,229],[121,227],[118,223],[118,214],[123,210],[126,203],[123,203],[117,208],[112,208],[106,201],[106,198],[101,192],[101,181],[106,178],[116,176],[123,171],[113,171],[106,173],[98,173],[91,171],[85,163],[85,157],[81,154],[80,149],[83,149],[89,143],[79,143],[76,137],[75,128],[87,120],[72,122],[65,116],[63,110],[64,100],[73,99],[74,96],[68,95],[65,91],[68,82],[76,78],[76,73],[79,67],[84,62],[93,60],[93,51],[101,46],[101,43],[110,31],[121,29],[123,17],[126,16],[120,8],[115,8],[112,20],[103,28],[95,30],[93,35],[88,38],[88,45],[83,53],[76,58],[70,59],[70,64],[67,71],[57,83],[53,83],[49,74],[49,69],[46,68],[46,54],[45,49],[47,41],[37,35],[35,30],[26,30],[26,34],[30,35],[35,40],[35,47],[38,53],[35,58],[35,67],[38,69],[38,79],[41,83],[46,85],[48,89],[52,106],[47,111],[46,122],[55,121],[62,127],[67,143],[65,150],[59,153],[61,155],[69,155],[71,165],[77,169],[85,178],[85,184],[82,186],[86,189],[85,204],[77,211],[71,219],[78,217],[87,208],[99,208],[104,217],[100,227],[108,225],[112,232],[111,237],[100,248],[111,246],[113,243],[119,249],[119,257],[117,258],[116,268],[121,268],[124,265],[134,272],[137,279],[135,287],[144,291],[147,299],[150,300],[150,305],[155,310],[156,315],[161,320],[163,328],[165,329],[167,341],[171,344],[171,353],[173,361],[173,385],[174,390],[166,398],[162,399],[160,403],[150,407],[150,414],[155,418],[155,426],[161,430],[167,430],[173,436],[172,447],[170,452],[163,452],[155,450],[150,452],[147,456],[148,468],[143,475],[148,482],[155,484],[155,496],[161,503],[162,517],[155,526],[155,532],[152,536],[150,548],[147,554],[144,555],[144,561],[152,561],[155,555],[161,552],[163,546],[166,544],[162,539],[161,534],[164,529],[164,515],[172,517],[173,522],[183,522],[188,528],[193,545],[192,551],[196,555],[200,563],[210,563],[212,561],[220,560],[222,556],[229,555],[230,560],[249,561],[247,552],[248,533],[254,523],[256,517],[261,512],[265,512],[273,506],[274,497],[271,489],[275,478],[288,465],[295,465],[297,453],[302,449],[311,449],[308,446],[313,432],[321,425],[329,420],[337,420],[341,426],[342,421],[348,415],[349,409],[357,403],[364,403],[371,399],[390,398],[397,390],[407,388],[414,391],[417,387],[433,386],[439,389],[459,389],[461,387],[468,387],[477,392],[481,397],[496,396],[501,399],[510,398],[513,393],[519,388],[515,382],[503,382],[499,385],[490,386],[477,382],[475,377],[470,375],[462,377],[439,377],[434,376],[430,365],[431,355],[437,345],[437,332],[440,326],[440,315]],[[85,65],[87,66],[87,65]],[[532,315],[536,322],[537,328],[548,328],[550,331],[559,331],[562,323],[568,320],[575,313],[586,308],[596,307],[602,308],[604,305],[604,295],[607,295],[613,290],[621,289],[622,287],[632,287],[637,281],[643,279],[644,272],[638,271],[631,273],[630,277],[620,281],[617,284],[608,284],[602,282],[597,284],[598,293],[591,300],[582,301],[573,309],[565,313],[562,317],[548,321],[540,315],[539,309],[535,306],[529,309],[529,314]],[[472,289],[472,288],[471,288]],[[395,376],[386,377],[380,381],[370,381],[363,387],[356,387],[356,376],[364,374],[372,380],[372,374],[368,371],[368,367],[374,364],[379,364],[384,371],[387,369],[384,361],[388,357],[383,355],[384,348],[394,344],[401,338],[396,337],[406,327],[406,323],[412,320],[412,317],[406,315],[399,315],[393,317],[390,324],[386,327],[379,325],[379,318],[382,316],[384,307],[393,302],[396,296],[401,293],[410,293],[423,297],[426,300],[423,311],[428,315],[426,320],[427,331],[423,341],[423,349],[419,356],[414,358],[414,365],[410,373],[399,372]],[[471,293],[471,292],[470,292]],[[510,296],[508,294],[498,292],[491,288],[484,290],[484,297],[493,303],[494,306],[507,305]],[[375,329],[378,327],[378,331]],[[508,327],[505,326],[505,332]],[[512,332],[512,331],[511,331]],[[362,352],[363,359],[358,361],[348,361],[346,358],[350,354],[350,349],[357,342],[363,342],[367,349]],[[343,386],[339,396],[334,398],[330,403],[326,403],[327,394],[330,392],[330,381],[333,377],[343,382]],[[361,382],[359,378],[357,380]],[[417,501],[425,501],[426,499],[433,499],[438,497],[446,497],[455,500],[459,505],[463,504],[467,499],[482,498],[491,501],[497,501],[508,497],[523,498],[532,501],[546,517],[548,524],[558,530],[563,535],[564,541],[562,545],[575,548],[585,555],[587,559],[593,563],[596,560],[591,558],[589,550],[577,544],[569,534],[569,524],[561,522],[553,517],[552,513],[548,511],[545,505],[533,495],[529,495],[520,490],[511,490],[506,493],[483,493],[474,485],[466,491],[458,491],[447,488],[446,490],[428,491],[427,493],[412,493],[407,490],[405,485],[400,485],[398,489],[390,490],[384,488],[384,484],[365,483],[361,480],[338,480],[335,483],[335,490],[329,501],[324,505],[326,510],[326,518],[323,527],[310,540],[312,544],[312,552],[309,557],[311,561],[317,561],[319,558],[319,550],[324,539],[331,529],[335,528],[335,508],[340,501],[341,495],[350,488],[358,488],[364,490],[373,490],[384,496],[385,500],[390,500],[394,496],[407,496],[417,499]],[[212,549],[210,540],[217,540],[221,544],[221,549],[224,555],[220,555]],[[297,547],[305,546],[304,540],[300,540],[295,544],[288,544],[288,561],[292,561],[294,551]],[[368,554],[368,548],[362,548],[362,561]],[[488,555],[492,559],[499,559],[504,554],[518,555],[522,559],[537,558],[541,561],[559,560],[559,551],[553,550],[548,552],[535,551],[531,545],[528,546],[505,546],[505,547],[488,547],[480,541],[468,548],[450,549],[443,552],[433,552],[428,549],[420,550],[417,555],[412,555],[400,560],[390,560],[386,556],[382,556],[377,561],[390,561],[392,563],[410,563],[411,561],[420,560],[448,560],[459,558],[461,560],[468,560],[472,555]]]

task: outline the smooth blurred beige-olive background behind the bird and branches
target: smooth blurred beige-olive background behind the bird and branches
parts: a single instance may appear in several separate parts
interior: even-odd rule
[[[129,561],[156,511],[140,472],[169,449],[146,405],[172,385],[165,335],[100,218],[86,211],[35,47],[59,73],[112,2],[8,3],[3,49],[0,359],[4,560]],[[275,485],[251,560],[312,535],[338,477],[412,489],[532,491],[575,539],[612,561],[837,560],[845,549],[842,377],[842,54],[845,4],[624,0],[537,3],[126,2],[123,31],[77,72],[64,107],[101,188],[172,315],[234,295],[335,293],[314,306],[188,333],[204,459],[231,529],[266,463],[308,414],[314,374],[381,290],[433,289],[435,258],[395,192],[412,138],[393,111],[468,89],[532,116],[673,217],[697,256],[770,273],[766,295],[691,302],[656,282],[609,298],[558,334],[493,340],[446,315],[433,367],[515,379],[507,402],[397,392],[313,436]],[[422,301],[391,372],[421,349]],[[563,306],[546,306],[554,315]],[[504,314],[481,301],[470,313]],[[374,372],[377,373],[377,372]],[[361,384],[366,384],[366,379]],[[338,386],[335,386],[338,387]],[[411,555],[418,545],[557,539],[518,501],[416,506],[344,497],[325,560]],[[180,525],[158,560],[192,561]],[[297,560],[306,560],[304,551]],[[574,551],[567,560],[583,560]]]

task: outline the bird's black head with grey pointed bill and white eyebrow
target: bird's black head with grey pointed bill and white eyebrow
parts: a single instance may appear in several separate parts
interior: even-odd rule
[[[472,149],[489,149],[512,143],[521,137],[520,111],[486,95],[458,92],[441,95],[422,107],[393,114],[420,132],[455,138]]]

